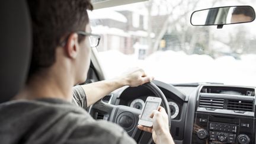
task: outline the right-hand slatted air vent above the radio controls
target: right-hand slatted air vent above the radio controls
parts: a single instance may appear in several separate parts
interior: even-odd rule
[[[228,110],[254,111],[253,101],[228,100]]]

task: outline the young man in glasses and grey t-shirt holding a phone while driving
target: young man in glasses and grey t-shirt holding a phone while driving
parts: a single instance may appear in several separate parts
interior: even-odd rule
[[[87,78],[94,44],[87,14],[90,1],[28,0],[28,6],[33,26],[31,68],[15,100],[0,105],[1,143],[136,143],[117,124],[95,121],[71,103],[73,85]],[[112,81],[73,88],[73,101],[86,107],[123,85],[136,87],[151,80],[135,69]],[[174,143],[164,108],[151,117],[153,127],[139,129],[152,132],[156,143]]]

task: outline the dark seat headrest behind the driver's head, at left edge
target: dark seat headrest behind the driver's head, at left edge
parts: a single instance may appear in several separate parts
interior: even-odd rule
[[[30,65],[31,26],[27,2],[0,2],[0,103],[14,97],[25,84]]]

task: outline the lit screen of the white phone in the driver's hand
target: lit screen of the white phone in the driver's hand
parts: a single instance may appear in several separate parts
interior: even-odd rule
[[[146,120],[146,121],[152,121],[152,119],[149,116],[151,115],[153,110],[157,110],[158,104],[159,103],[157,102],[146,101],[145,108],[143,110],[143,113],[140,119]]]

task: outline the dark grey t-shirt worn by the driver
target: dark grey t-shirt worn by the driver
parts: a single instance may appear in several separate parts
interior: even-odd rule
[[[80,94],[74,100],[85,107],[81,87],[74,89]],[[136,143],[117,124],[95,121],[81,107],[53,98],[0,104],[1,143]]]

